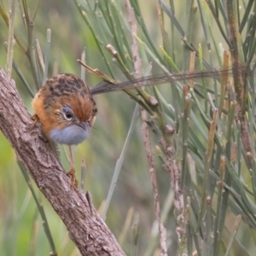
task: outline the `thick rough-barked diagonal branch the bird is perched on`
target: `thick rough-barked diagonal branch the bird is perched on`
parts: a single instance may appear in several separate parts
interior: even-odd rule
[[[90,194],[70,189],[70,179],[53,154],[39,126],[20,99],[15,82],[0,67],[0,130],[15,149],[38,189],[67,226],[82,255],[125,255],[92,206]]]

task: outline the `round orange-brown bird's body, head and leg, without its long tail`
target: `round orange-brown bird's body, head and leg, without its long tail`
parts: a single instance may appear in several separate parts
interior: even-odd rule
[[[34,124],[41,123],[45,135],[55,143],[67,144],[70,154],[71,186],[77,184],[71,145],[86,139],[96,119],[96,102],[82,79],[61,73],[48,79],[32,101]]]

